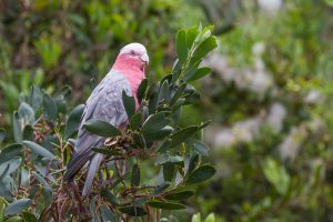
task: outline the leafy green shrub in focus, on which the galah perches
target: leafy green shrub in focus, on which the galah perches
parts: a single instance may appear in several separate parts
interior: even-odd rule
[[[52,97],[31,87],[29,98],[13,113],[16,143],[0,153],[0,216],[8,221],[127,221],[147,215],[159,221],[161,210],[185,209],[184,200],[193,195],[192,184],[210,179],[215,169],[205,163],[208,148],[198,140],[209,122],[180,128],[178,120],[182,107],[200,99],[190,82],[210,72],[199,64],[216,42],[211,28],[194,27],[180,30],[175,46],[178,60],[171,74],[159,82],[141,83],[138,113],[134,99],[123,93],[129,117],[123,132],[99,120],[84,123],[91,133],[108,138],[102,148],[93,148],[107,161],[84,200],[78,193],[84,173],[75,183],[63,182],[71,138],[84,105],[68,114],[69,87]],[[142,170],[143,164],[150,172]]]

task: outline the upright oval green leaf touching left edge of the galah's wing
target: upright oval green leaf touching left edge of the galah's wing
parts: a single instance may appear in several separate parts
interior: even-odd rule
[[[79,104],[69,114],[69,118],[67,120],[65,128],[64,128],[64,139],[69,139],[78,130],[78,128],[81,123],[81,118],[82,118],[84,108],[85,108],[84,104]]]

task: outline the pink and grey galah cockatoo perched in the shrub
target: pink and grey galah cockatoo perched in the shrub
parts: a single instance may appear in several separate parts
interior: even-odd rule
[[[128,115],[122,102],[122,92],[134,97],[135,109],[139,109],[137,98],[138,88],[145,74],[149,57],[145,48],[140,43],[130,43],[120,50],[113,67],[104,79],[94,88],[89,97],[79,127],[74,145],[75,153],[69,161],[65,181],[71,181],[78,171],[88,162],[89,169],[82,195],[89,194],[94,174],[99,169],[103,154],[95,153],[91,148],[104,144],[105,138],[91,134],[83,124],[90,119],[98,119],[122,129],[128,124]]]

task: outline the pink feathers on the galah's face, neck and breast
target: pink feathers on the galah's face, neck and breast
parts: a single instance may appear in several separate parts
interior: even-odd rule
[[[130,82],[132,88],[132,94],[135,99],[135,107],[139,108],[139,102],[137,98],[138,88],[142,80],[144,79],[144,65],[139,58],[130,57],[129,54],[121,54],[117,58],[112,70],[119,71],[123,74]]]

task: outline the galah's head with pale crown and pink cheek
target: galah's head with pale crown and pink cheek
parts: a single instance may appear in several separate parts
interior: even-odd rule
[[[120,60],[121,63],[125,63],[127,65],[139,68],[142,71],[144,71],[149,63],[145,47],[137,42],[124,46],[120,50],[117,60]]]

